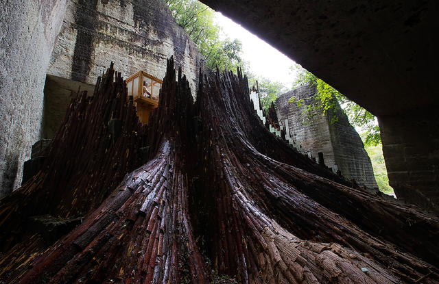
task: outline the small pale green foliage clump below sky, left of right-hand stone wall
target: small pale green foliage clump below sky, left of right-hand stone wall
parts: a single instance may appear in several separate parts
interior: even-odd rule
[[[272,82],[265,77],[254,77],[254,75],[248,76],[248,84],[250,86],[256,86],[256,81],[259,87],[259,97],[261,98],[261,105],[263,109],[268,109],[273,101],[276,101],[278,96],[286,91],[283,83],[279,81]]]

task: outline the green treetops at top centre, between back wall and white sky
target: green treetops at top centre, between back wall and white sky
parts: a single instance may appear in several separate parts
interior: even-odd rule
[[[240,40],[219,40],[221,27],[215,23],[215,12],[198,0],[165,0],[172,16],[187,31],[206,60],[206,67],[215,71],[246,68],[242,60]]]

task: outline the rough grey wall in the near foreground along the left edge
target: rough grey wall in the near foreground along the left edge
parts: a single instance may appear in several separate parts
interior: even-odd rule
[[[40,138],[47,66],[66,0],[0,1],[0,197],[19,187]]]

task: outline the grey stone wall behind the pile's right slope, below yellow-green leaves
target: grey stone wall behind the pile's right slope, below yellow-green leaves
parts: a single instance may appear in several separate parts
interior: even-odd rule
[[[327,114],[316,113],[309,118],[303,114],[306,105],[311,103],[311,96],[316,93],[316,87],[302,86],[296,90],[289,91],[276,99],[276,112],[278,120],[288,120],[289,135],[296,143],[302,146],[313,157],[318,157],[318,152],[324,155],[324,163],[333,168],[333,171],[340,170],[347,179],[355,179],[358,183],[364,183],[369,188],[377,188],[373,175],[370,158],[364,150],[357,131],[349,124],[346,114],[340,106],[335,112],[337,122],[331,124],[334,112],[329,109]],[[288,100],[295,96],[304,100],[298,107],[296,103],[289,103]]]

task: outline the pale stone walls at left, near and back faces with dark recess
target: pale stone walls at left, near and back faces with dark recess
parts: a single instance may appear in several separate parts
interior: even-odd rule
[[[89,89],[110,62],[125,78],[163,78],[174,55],[198,87],[202,55],[161,0],[12,0],[0,11],[0,197],[19,187],[32,144],[54,135],[78,83]]]

